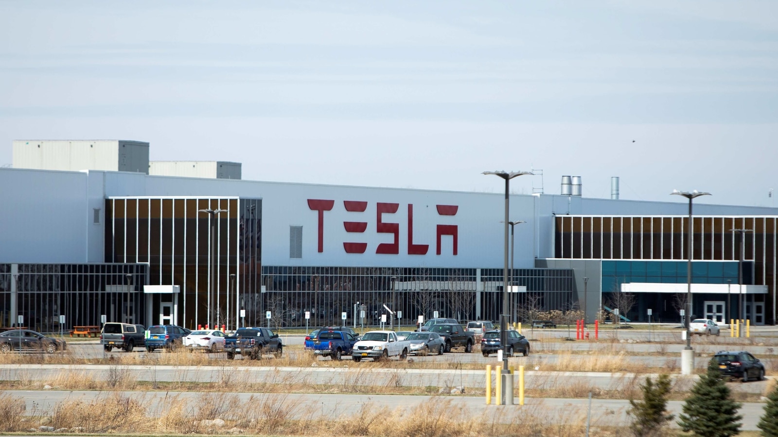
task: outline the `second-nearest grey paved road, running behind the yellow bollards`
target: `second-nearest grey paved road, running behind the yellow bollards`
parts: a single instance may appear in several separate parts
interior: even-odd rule
[[[332,367],[261,367],[261,366],[197,366],[197,365],[0,365],[0,380],[40,381],[41,386],[58,386],[58,379],[69,376],[95,380],[111,380],[126,376],[137,381],[167,382],[263,382],[282,385],[334,385],[344,392],[355,386],[464,386],[483,390],[485,370],[464,369],[372,369],[365,366]],[[576,393],[590,390],[626,390],[643,383],[645,376],[633,373],[606,372],[543,372],[527,370],[527,389],[566,387]],[[697,376],[673,376],[679,383],[692,386]],[[493,382],[492,382],[493,383]],[[733,382],[733,391],[761,394],[767,381]]]

